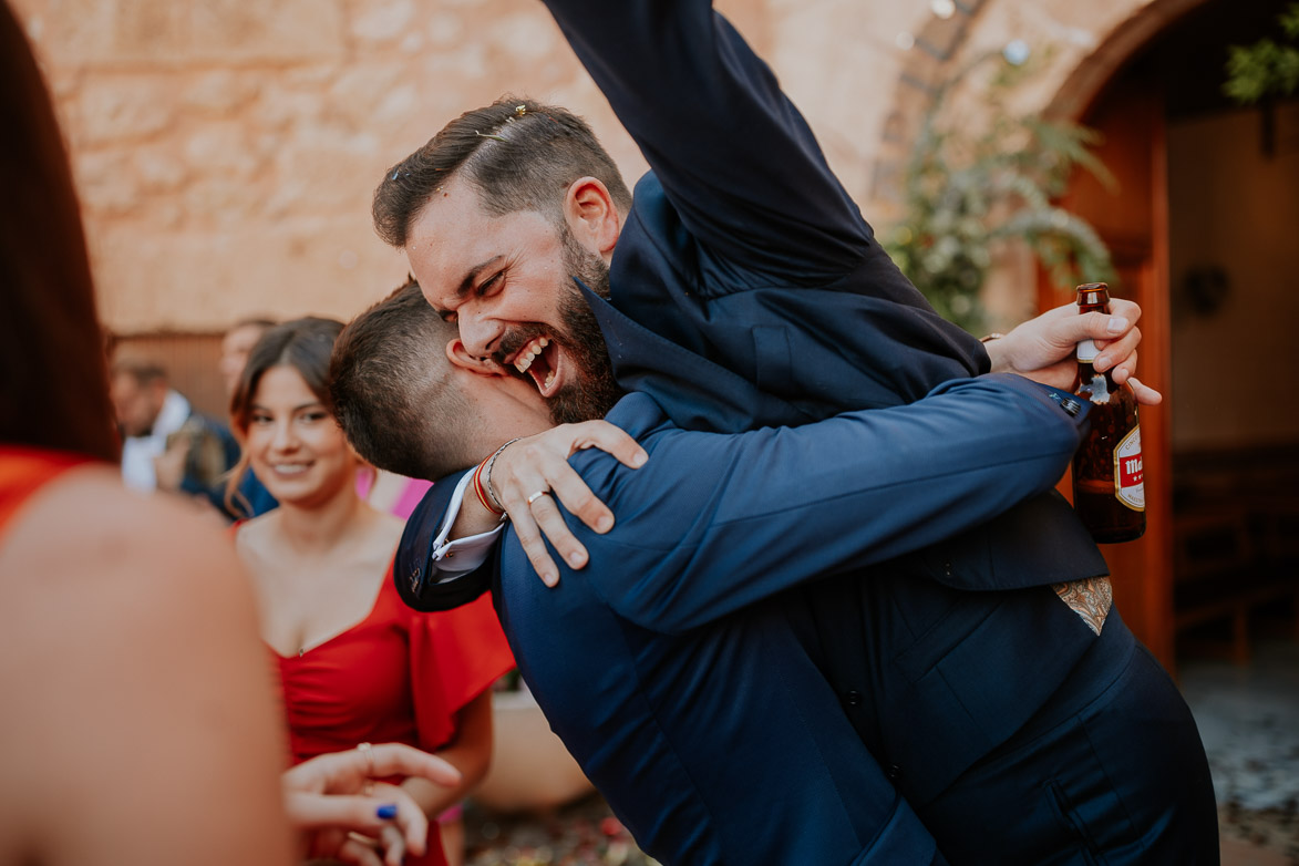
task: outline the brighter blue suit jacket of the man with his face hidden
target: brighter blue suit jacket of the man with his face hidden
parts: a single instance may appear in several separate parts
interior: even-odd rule
[[[683,431],[630,395],[609,421],[644,445],[646,469],[574,457],[618,515],[608,535],[574,526],[588,566],[548,589],[507,531],[488,567],[448,586],[492,584],[552,728],[662,862],[929,863],[931,837],[826,688],[786,591],[891,561],[1050,487],[1083,428],[1060,399],[983,377],[912,406],[718,435]],[[985,423],[1007,431],[1013,476],[982,448]],[[912,452],[934,428],[952,447]],[[413,606],[439,599],[427,566],[453,487],[434,486],[403,539],[397,588]]]

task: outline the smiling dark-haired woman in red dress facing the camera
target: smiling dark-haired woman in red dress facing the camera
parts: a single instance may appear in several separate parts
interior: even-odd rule
[[[304,318],[268,331],[231,400],[253,470],[279,508],[235,528],[261,634],[283,684],[294,761],[395,741],[435,752],[462,782],[396,779],[430,819],[487,770],[491,692],[513,666],[487,604],[423,614],[392,583],[403,522],[357,495],[360,458],[334,421],[329,356],[342,323]],[[238,476],[231,483],[238,483]],[[430,853],[408,863],[442,863]]]

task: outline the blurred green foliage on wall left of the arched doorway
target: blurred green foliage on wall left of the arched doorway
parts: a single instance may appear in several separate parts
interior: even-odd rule
[[[985,64],[996,64],[981,96],[990,121],[970,130],[944,119],[953,87]],[[1095,229],[1055,204],[1078,169],[1115,186],[1094,153],[1100,134],[1009,110],[1007,96],[1031,73],[989,53],[937,88],[903,173],[904,216],[885,243],[938,313],[972,334],[986,332],[979,293],[998,247],[1025,244],[1059,288],[1113,278]]]

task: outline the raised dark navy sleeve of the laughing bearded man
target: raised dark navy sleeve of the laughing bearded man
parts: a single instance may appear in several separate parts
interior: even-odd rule
[[[870,229],[770,69],[708,0],[547,5],[686,231],[721,260],[709,290],[761,284],[731,269],[796,286],[857,265]]]

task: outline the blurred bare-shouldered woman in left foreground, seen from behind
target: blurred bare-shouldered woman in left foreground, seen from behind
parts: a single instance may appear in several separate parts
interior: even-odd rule
[[[423,849],[426,824],[372,776],[459,774],[395,744],[279,774],[253,599],[229,544],[191,509],[122,484],[71,173],[5,3],[0,127],[0,863],[395,866]],[[203,796],[177,796],[184,786]]]

